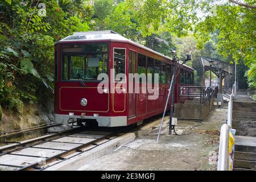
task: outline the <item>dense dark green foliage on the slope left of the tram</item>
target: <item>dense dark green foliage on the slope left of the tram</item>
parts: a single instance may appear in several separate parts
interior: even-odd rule
[[[84,1],[40,2],[47,16],[38,14],[34,1],[0,3],[0,104],[7,109],[19,111],[24,102],[52,95],[54,42],[89,30],[92,10]]]

